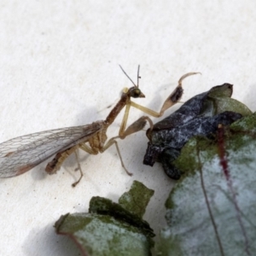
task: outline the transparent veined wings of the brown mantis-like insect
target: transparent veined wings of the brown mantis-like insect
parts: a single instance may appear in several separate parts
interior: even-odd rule
[[[29,171],[59,151],[88,141],[103,122],[41,131],[15,137],[0,144],[0,177],[13,177]]]

